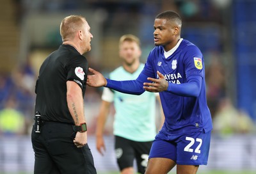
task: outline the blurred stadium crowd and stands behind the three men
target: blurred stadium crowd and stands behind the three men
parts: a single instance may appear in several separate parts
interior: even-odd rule
[[[175,10],[182,38],[205,59],[207,100],[214,134],[252,134],[256,123],[256,1],[254,0],[2,0],[0,6],[0,136],[29,135],[35,81],[47,54],[61,44],[67,15],[83,15],[91,26],[89,66],[108,75],[120,65],[118,39],[141,40],[145,63],[154,47],[154,18]],[[95,132],[102,88],[87,88],[89,133]],[[113,111],[114,112],[114,111]],[[111,134],[111,122],[106,134]]]

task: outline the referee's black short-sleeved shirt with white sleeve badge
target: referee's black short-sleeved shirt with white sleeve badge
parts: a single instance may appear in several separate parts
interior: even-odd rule
[[[60,45],[45,59],[35,87],[35,112],[41,114],[42,120],[74,124],[67,106],[66,83],[77,83],[84,97],[87,72],[86,58],[70,45]]]

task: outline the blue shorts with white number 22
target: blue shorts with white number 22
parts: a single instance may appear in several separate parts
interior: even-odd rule
[[[150,158],[168,158],[181,165],[207,165],[211,131],[166,135],[162,131],[154,140]]]

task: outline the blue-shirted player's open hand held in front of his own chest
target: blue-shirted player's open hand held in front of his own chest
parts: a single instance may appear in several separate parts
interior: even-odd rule
[[[154,79],[151,77],[148,77],[148,81],[152,81],[152,83],[143,83],[143,88],[146,91],[150,92],[161,92],[166,91],[168,88],[168,81],[164,78],[164,75],[161,74],[159,71],[157,71],[157,75],[159,76],[159,79]]]

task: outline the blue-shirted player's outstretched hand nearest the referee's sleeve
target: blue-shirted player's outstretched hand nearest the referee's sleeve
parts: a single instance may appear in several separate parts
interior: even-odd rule
[[[92,87],[106,86],[107,80],[100,72],[97,72],[97,70],[93,70],[93,68],[89,68],[88,70],[92,72],[92,75],[87,75],[86,83],[88,86],[92,86]]]

